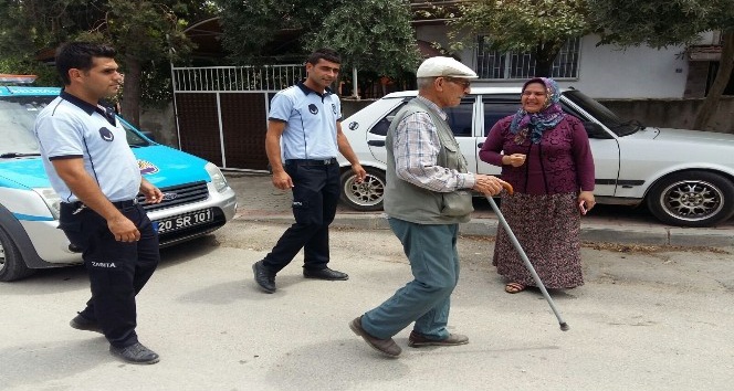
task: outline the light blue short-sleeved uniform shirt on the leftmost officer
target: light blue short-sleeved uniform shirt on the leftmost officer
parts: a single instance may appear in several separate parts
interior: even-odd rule
[[[83,158],[84,169],[109,201],[132,200],[140,191],[137,159],[113,112],[62,91],[39,113],[34,131],[51,186],[63,202],[78,198],[56,173],[54,159]]]

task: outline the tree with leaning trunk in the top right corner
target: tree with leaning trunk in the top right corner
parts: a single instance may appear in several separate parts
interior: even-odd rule
[[[734,0],[588,0],[601,43],[652,47],[691,44],[706,31],[723,33],[719,72],[693,128],[707,129],[734,68]]]

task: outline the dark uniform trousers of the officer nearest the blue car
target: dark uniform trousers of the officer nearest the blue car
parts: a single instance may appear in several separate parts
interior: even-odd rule
[[[107,228],[107,221],[81,203],[61,204],[59,228],[69,241],[82,249],[92,298],[80,313],[96,320],[111,345],[127,347],[136,344],[135,296],[156,270],[158,234],[141,205],[134,201],[113,202],[140,231],[137,242],[118,242]]]

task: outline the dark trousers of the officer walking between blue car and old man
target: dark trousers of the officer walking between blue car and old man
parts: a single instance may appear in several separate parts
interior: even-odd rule
[[[329,260],[328,225],[339,202],[339,165],[336,159],[286,160],[284,168],[293,180],[295,223],[264,257],[263,265],[277,273],[303,249],[303,267],[323,270]]]

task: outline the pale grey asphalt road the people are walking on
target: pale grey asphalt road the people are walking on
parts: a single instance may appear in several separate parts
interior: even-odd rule
[[[87,299],[82,267],[0,284],[2,390],[724,390],[734,379],[734,249],[587,245],[586,285],[552,292],[562,332],[537,292],[508,295],[493,243],[462,237],[452,348],[386,359],[347,323],[410,278],[388,230],[334,229],[331,266],[347,282],[301,276],[301,256],[256,289],[251,265],[285,224],[237,219],[162,252],[138,296],[154,366],[120,362],[69,320]]]

